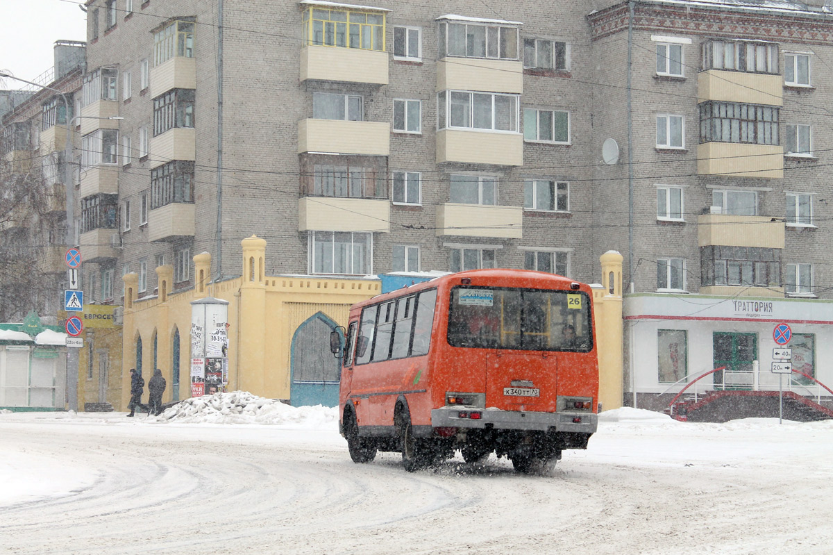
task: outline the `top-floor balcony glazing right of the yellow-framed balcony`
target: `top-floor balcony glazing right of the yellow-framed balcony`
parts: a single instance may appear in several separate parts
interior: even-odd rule
[[[440,57],[492,57],[518,59],[518,30],[500,23],[440,23]]]

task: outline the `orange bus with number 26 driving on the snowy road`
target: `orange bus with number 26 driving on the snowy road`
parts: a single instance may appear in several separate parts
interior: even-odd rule
[[[584,283],[490,269],[353,305],[346,335],[331,338],[352,460],[402,451],[413,471],[494,452],[526,473],[585,449],[599,391],[591,301]]]

